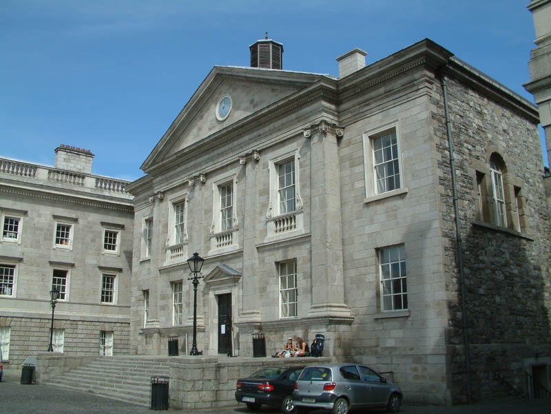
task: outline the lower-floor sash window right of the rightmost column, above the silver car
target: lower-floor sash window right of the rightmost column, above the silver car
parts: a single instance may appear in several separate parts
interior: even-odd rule
[[[383,311],[408,309],[406,250],[404,245],[379,251],[381,307]]]

